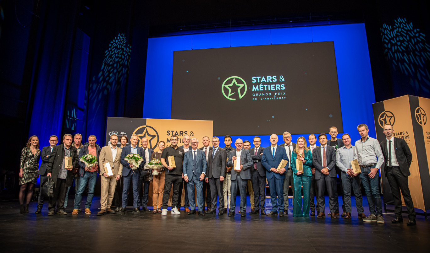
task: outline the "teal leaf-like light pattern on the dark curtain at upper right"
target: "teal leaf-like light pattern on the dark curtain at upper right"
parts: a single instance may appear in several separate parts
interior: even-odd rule
[[[395,70],[409,77],[409,84],[415,91],[430,92],[430,46],[426,35],[414,28],[406,18],[397,18],[393,25],[383,24],[381,28],[384,55]]]

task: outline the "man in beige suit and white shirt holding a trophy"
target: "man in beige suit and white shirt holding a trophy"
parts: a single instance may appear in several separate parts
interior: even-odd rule
[[[111,209],[112,198],[114,198],[115,186],[117,181],[120,180],[123,171],[123,165],[120,163],[121,148],[117,147],[118,136],[116,134],[111,135],[111,144],[101,148],[99,163],[100,163],[100,183],[101,183],[101,196],[100,204],[101,210],[97,213],[98,216],[106,213],[115,213]],[[107,165],[112,170],[113,175],[108,175]]]

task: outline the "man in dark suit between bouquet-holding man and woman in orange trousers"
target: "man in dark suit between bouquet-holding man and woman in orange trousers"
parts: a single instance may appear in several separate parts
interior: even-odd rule
[[[138,182],[138,192],[139,192],[139,201],[138,205],[142,206],[142,211],[150,212],[151,210],[148,209],[148,197],[149,197],[149,185],[151,181],[146,181],[145,178],[148,177],[149,169],[146,168],[146,165],[148,162],[151,162],[151,155],[154,152],[153,149],[148,147],[148,139],[143,137],[141,140],[143,153],[145,154],[145,164],[142,167],[142,170],[140,172],[139,182]],[[143,187],[142,187],[143,186]],[[139,207],[138,207],[139,208]]]

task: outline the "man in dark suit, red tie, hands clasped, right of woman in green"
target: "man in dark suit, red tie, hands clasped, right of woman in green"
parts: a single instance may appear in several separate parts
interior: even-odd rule
[[[312,163],[315,166],[315,180],[318,185],[318,205],[319,213],[317,218],[326,217],[324,209],[326,201],[324,200],[324,191],[329,192],[330,217],[337,219],[335,216],[335,192],[336,192],[336,152],[332,146],[327,145],[327,135],[319,134],[318,140],[321,146],[312,151]]]

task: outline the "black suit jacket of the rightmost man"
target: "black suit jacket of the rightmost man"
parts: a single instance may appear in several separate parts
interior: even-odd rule
[[[393,137],[394,143],[392,143],[391,148],[395,149],[397,163],[399,163],[400,171],[402,171],[403,176],[408,177],[411,175],[409,167],[411,167],[412,153],[409,149],[408,144],[402,138]],[[393,145],[394,144],[394,145]],[[387,148],[387,138],[381,142],[382,154],[384,155],[384,163],[381,168],[384,168],[385,177],[387,177],[387,166],[388,166],[388,148]]]

